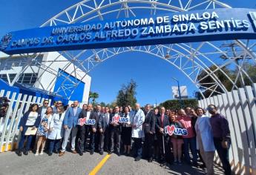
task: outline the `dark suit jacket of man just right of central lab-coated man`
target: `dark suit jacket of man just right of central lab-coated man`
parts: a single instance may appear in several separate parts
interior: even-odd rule
[[[151,131],[152,133],[155,133],[155,125],[156,125],[156,116],[154,115],[154,112],[150,110],[147,113],[145,113],[145,121],[143,123],[144,126],[144,132],[149,133]]]

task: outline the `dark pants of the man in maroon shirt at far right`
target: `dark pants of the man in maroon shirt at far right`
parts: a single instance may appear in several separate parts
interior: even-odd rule
[[[232,174],[231,166],[229,164],[229,149],[223,148],[221,145],[222,138],[214,137],[214,146],[217,150],[217,154],[220,157],[220,161],[223,165],[223,169],[226,175]]]

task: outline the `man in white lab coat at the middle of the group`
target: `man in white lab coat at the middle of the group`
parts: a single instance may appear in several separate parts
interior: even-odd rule
[[[140,109],[140,104],[135,104],[134,116],[132,117],[132,137],[134,139],[135,161],[140,161],[142,157],[142,138],[145,136],[142,125],[145,120],[145,114]]]

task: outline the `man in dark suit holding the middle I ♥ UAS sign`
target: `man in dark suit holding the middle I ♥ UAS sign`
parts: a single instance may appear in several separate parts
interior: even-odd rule
[[[122,125],[119,122],[114,122],[112,119],[114,117],[122,117],[122,113],[119,113],[119,106],[114,108],[114,113],[111,113],[111,117],[109,119],[110,122],[110,129],[111,129],[111,151],[109,154],[113,153],[114,151],[114,140],[116,140],[116,151],[117,156],[120,156],[120,142],[121,142],[121,132],[122,132]]]

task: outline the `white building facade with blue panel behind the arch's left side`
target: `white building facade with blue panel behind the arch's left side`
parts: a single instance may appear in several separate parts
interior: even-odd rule
[[[33,59],[30,59],[33,58]],[[0,52],[0,78],[88,103],[91,76],[58,52],[8,56]]]

